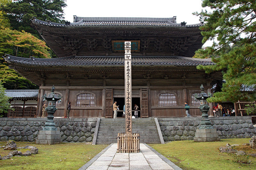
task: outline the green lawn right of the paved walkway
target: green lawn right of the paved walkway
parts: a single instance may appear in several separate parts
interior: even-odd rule
[[[150,144],[157,152],[168,158],[183,170],[256,170],[256,158],[249,156],[250,164],[240,164],[227,153],[220,153],[219,147],[240,144],[233,147],[247,154],[256,153],[256,149],[244,146],[247,139],[221,139],[221,142],[174,141],[168,144]]]

